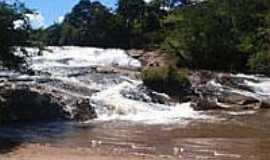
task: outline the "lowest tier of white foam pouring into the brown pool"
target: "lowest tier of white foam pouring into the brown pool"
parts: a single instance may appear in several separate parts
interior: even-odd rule
[[[171,123],[202,116],[190,107],[190,103],[171,106],[132,100],[121,92],[135,89],[140,82],[123,82],[92,96],[99,120],[131,120],[148,124]]]

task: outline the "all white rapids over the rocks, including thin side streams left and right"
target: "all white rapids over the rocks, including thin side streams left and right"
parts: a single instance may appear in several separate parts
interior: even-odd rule
[[[68,94],[89,98],[98,114],[97,120],[126,120],[156,124],[183,123],[186,119],[209,118],[201,112],[194,111],[190,103],[170,105],[154,103],[147,93],[139,90],[143,83],[138,78],[95,70],[102,67],[121,68],[128,72],[139,71],[142,68],[141,62],[129,56],[124,50],[66,46],[47,47],[42,55],[36,54],[37,50],[31,48],[28,48],[28,52],[32,56],[29,59],[30,67],[40,73],[34,78],[46,77],[53,81],[53,84],[50,84],[53,87],[58,87]],[[16,75],[10,72],[1,74]],[[29,78],[26,75],[16,76]],[[245,85],[255,90],[255,93],[241,90],[233,90],[233,92],[257,99],[269,99],[269,78],[242,74],[232,76],[246,78]],[[224,89],[217,82],[208,83],[217,89]],[[133,94],[131,97],[126,95],[130,91]],[[160,95],[166,97],[162,93]]]

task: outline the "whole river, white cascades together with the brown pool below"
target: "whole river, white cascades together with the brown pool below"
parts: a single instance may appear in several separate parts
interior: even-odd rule
[[[140,88],[141,63],[123,50],[49,47],[29,61],[38,76],[2,72],[88,97],[98,118],[17,123],[0,128],[0,160],[267,160],[270,110],[194,111],[190,103],[157,104]],[[103,68],[96,72],[97,67]],[[134,72],[111,72],[111,68]],[[246,76],[246,75],[235,75]],[[270,98],[270,79],[250,76],[253,96]],[[46,81],[44,81],[46,79]],[[49,79],[49,80],[48,80]],[[160,94],[160,93],[158,93]],[[163,95],[163,94],[160,94]],[[163,95],[166,96],[166,95]],[[10,147],[9,147],[10,146]]]

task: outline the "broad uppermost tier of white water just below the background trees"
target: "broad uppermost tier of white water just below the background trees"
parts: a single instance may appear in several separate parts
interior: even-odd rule
[[[47,67],[116,66],[138,69],[141,63],[129,57],[124,50],[89,47],[48,47],[42,56],[33,59],[33,69]]]

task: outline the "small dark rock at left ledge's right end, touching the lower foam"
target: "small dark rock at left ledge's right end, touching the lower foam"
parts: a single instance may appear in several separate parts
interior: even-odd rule
[[[87,121],[97,118],[97,113],[94,107],[90,105],[89,99],[78,100],[73,114],[73,118],[76,121]]]

